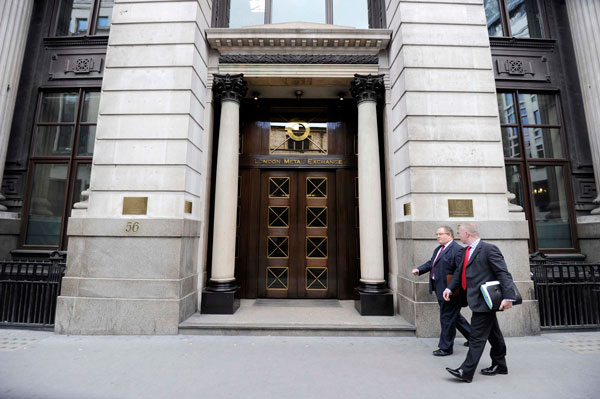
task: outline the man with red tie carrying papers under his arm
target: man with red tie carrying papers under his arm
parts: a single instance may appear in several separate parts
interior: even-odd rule
[[[481,374],[508,374],[506,344],[498,326],[496,311],[488,308],[480,287],[488,281],[498,280],[504,294],[500,310],[510,309],[515,300],[515,298],[509,297],[511,295],[509,293],[513,292],[512,276],[506,268],[506,262],[504,262],[504,257],[498,247],[481,241],[476,224],[461,224],[458,235],[463,244],[467,244],[467,246],[462,251],[461,261],[452,281],[444,291],[444,299],[450,301],[452,291],[461,286],[466,290],[467,302],[473,311],[473,316],[471,317],[471,337],[467,357],[457,369],[446,368],[446,370],[459,380],[471,382],[483,354],[485,342],[489,340],[492,346],[490,350],[492,365],[481,369]]]

